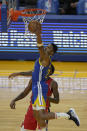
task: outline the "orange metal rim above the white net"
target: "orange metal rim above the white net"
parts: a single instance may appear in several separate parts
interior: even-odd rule
[[[24,12],[28,12],[28,11],[42,11],[42,13],[37,13],[37,14],[24,14]],[[33,17],[35,15],[45,15],[47,13],[46,10],[43,9],[24,9],[24,10],[20,10],[18,11],[18,15],[20,16],[25,16],[25,17]]]

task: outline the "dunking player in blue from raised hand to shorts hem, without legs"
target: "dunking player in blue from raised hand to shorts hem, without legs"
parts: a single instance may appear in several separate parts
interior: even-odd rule
[[[38,23],[37,23],[38,24]],[[35,32],[37,36],[37,46],[39,49],[40,57],[36,60],[34,71],[32,73],[32,104],[33,109],[45,109],[47,99],[47,84],[46,79],[49,75],[51,67],[51,56],[57,51],[57,46],[49,44],[44,48],[41,39],[41,26],[38,24],[38,29]]]

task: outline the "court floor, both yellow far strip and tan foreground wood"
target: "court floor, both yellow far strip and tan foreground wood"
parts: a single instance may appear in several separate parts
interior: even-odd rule
[[[54,62],[54,65],[55,74],[60,74],[61,77],[87,77],[87,63]],[[28,61],[0,61],[0,76],[32,70],[33,66],[34,62]],[[18,101],[15,110],[10,109],[9,103],[21,91],[22,89],[0,88],[0,131],[20,131],[21,122],[29,105],[29,96]],[[49,131],[87,131],[87,90],[82,94],[80,91],[75,91],[73,94],[70,94],[68,90],[60,92],[60,103],[52,104],[51,111],[67,112],[71,107],[76,109],[81,126],[77,127],[69,120],[57,119],[49,122]]]

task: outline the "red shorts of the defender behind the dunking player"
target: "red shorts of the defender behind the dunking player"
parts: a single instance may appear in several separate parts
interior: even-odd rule
[[[33,110],[32,110],[31,103],[28,108],[27,114],[25,115],[23,125],[24,125],[24,129],[27,129],[27,130],[36,130],[36,128],[37,128],[37,121],[35,120],[35,118],[33,116]]]

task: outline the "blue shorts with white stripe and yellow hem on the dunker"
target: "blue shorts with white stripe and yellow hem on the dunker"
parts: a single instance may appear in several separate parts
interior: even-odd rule
[[[32,83],[32,106],[46,108],[47,92],[46,82]]]

